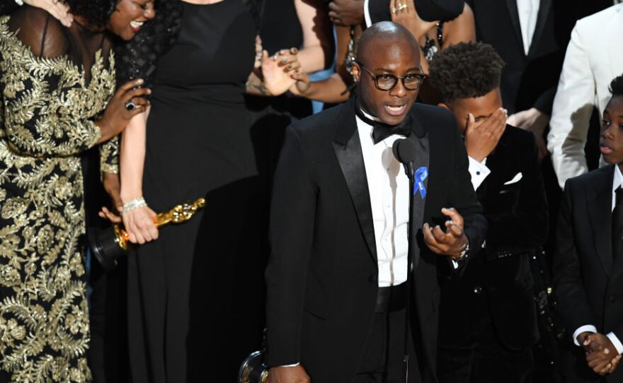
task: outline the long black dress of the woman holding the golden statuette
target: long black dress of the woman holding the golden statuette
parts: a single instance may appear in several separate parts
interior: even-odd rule
[[[184,3],[178,40],[156,62],[144,197],[156,212],[207,204],[128,261],[134,383],[234,382],[261,346],[268,187],[243,96],[255,36],[241,0]]]

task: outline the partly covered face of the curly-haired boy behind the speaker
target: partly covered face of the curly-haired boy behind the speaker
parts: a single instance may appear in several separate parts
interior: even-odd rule
[[[500,89],[491,90],[491,92],[481,97],[457,98],[447,107],[455,114],[461,133],[464,134],[465,129],[467,129],[468,113],[474,114],[475,126],[479,126],[491,117],[493,112],[502,107]]]

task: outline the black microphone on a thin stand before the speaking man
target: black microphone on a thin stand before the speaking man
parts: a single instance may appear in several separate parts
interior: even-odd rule
[[[405,293],[405,304],[404,304],[404,354],[402,358],[403,363],[403,372],[404,372],[404,383],[408,383],[408,336],[409,336],[409,319],[411,315],[409,312],[411,311],[411,283],[413,277],[411,273],[415,273],[415,270],[411,270],[411,250],[413,249],[413,198],[415,197],[415,193],[413,193],[413,188],[415,187],[415,164],[413,161],[409,161],[408,163],[404,163],[404,171],[409,179],[409,210],[408,210],[408,225],[407,225],[407,262],[406,262],[406,293]],[[413,335],[411,335],[413,336]]]

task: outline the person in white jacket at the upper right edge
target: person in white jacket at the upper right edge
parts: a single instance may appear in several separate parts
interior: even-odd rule
[[[561,187],[588,172],[584,146],[593,107],[600,119],[608,84],[623,73],[623,4],[578,20],[571,32],[551,112],[547,148]],[[600,165],[605,165],[600,160]]]

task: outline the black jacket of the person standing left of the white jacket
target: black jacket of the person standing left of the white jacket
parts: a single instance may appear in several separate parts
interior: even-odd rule
[[[555,0],[541,0],[537,26],[528,54],[522,42],[516,0],[467,0],[474,11],[476,39],[493,45],[506,65],[502,101],[508,114],[536,107],[551,115],[556,86],[571,31],[563,30]]]

